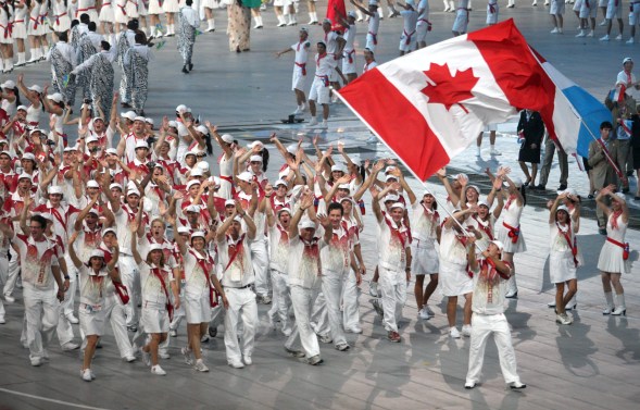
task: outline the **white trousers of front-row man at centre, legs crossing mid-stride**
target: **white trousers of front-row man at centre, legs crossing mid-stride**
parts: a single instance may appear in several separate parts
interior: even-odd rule
[[[285,347],[299,350],[298,347],[302,346],[306,358],[319,355],[317,336],[311,327],[311,309],[317,298],[317,289],[309,289],[297,285],[291,286],[291,303],[293,305],[296,323],[291,336],[285,343]]]

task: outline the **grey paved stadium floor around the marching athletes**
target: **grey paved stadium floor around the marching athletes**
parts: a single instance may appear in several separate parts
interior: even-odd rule
[[[622,58],[636,55],[635,47],[616,41],[579,40],[573,37],[572,29],[566,29],[564,36],[551,36],[548,9],[534,9],[528,2],[520,4],[511,10],[501,3],[501,18],[514,16],[539,52],[598,97],[613,85]],[[485,5],[476,0],[474,7],[478,11],[472,13],[470,27],[479,28],[485,20]],[[431,8],[430,21],[435,28],[429,42],[435,42],[450,36],[453,15],[443,14],[440,2],[434,2]],[[565,16],[565,27],[575,27],[573,14],[567,12]],[[277,129],[285,140],[300,137],[308,140],[311,135],[303,129],[279,124],[279,119],[293,108],[289,91],[292,64],[289,58],[276,60],[273,52],[292,44],[296,29],[275,28],[269,10],[265,14],[267,27],[252,32],[252,51],[236,54],[227,51],[225,18],[216,21],[218,30],[215,34],[198,38],[199,55],[192,74],[179,72],[181,63],[175,51],[175,39],[156,53],[147,113],[159,120],[184,102],[203,119],[221,124],[241,139],[265,139]],[[400,27],[398,20],[382,22],[380,62],[396,55]],[[365,26],[360,25],[359,29],[360,48]],[[313,38],[321,37],[319,28],[312,30]],[[43,65],[28,67],[25,73],[27,83],[30,78],[40,82],[47,76]],[[350,153],[361,158],[389,156],[384,146],[367,142],[368,132],[344,107],[334,105],[331,110],[335,117],[329,131],[322,134],[323,145],[342,140]],[[505,125],[501,131],[509,134],[511,127]],[[486,166],[495,167],[499,163],[514,166],[515,141],[501,135],[498,148],[503,156],[491,159],[485,152],[479,160],[472,148],[451,165],[473,178]],[[575,163],[569,166],[570,185],[586,195],[588,186],[583,174]],[[556,181],[554,169],[549,186],[554,187]],[[421,189],[415,181],[411,185]],[[442,194],[441,187],[428,185]],[[186,343],[186,331],[181,328],[178,338],[172,339],[175,341],[173,358],[162,363],[168,375],[154,377],[141,363],[118,360],[109,333],[95,363],[98,380],[91,384],[78,377],[77,353],[63,353],[55,343],[51,362],[38,369],[30,368],[27,352],[17,341],[22,308],[8,306],[8,324],[0,326],[0,409],[635,409],[640,399],[640,334],[636,313],[640,309],[639,264],[636,261],[632,273],[623,279],[628,315],[603,316],[602,289],[595,269],[603,237],[598,235],[593,221],[585,221],[579,236],[586,257],[586,265],[579,271],[579,309],[572,313],[576,321],[572,326],[559,327],[553,311],[545,307],[553,295],[549,282],[547,219],[547,212],[539,207],[527,207],[524,213],[523,232],[528,251],[516,257],[519,295],[510,302],[507,310],[519,373],[528,384],[522,393],[505,388],[492,344],[487,350],[482,385],[472,392],[462,387],[469,340],[448,338],[440,295],[436,295],[431,303],[437,315],[428,322],[416,320],[415,301],[410,295],[400,332],[403,341],[397,345],[385,340],[380,320],[371,309],[364,284],[360,298],[364,334],[348,336],[353,348],[347,353],[324,345],[322,355],[326,364],[323,366],[312,368],[288,358],[283,350],[284,336],[268,328],[266,309],[261,306],[254,364],[248,369],[233,370],[226,365],[224,341],[218,336],[204,346],[211,372],[196,374],[179,358],[178,348]],[[371,213],[365,224],[373,224]],[[628,240],[639,244],[640,233],[629,232]],[[371,231],[362,241],[365,260],[373,268],[376,247]],[[632,259],[638,259],[637,252]]]

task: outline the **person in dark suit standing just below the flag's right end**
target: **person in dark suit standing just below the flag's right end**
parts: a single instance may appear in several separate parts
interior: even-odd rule
[[[524,110],[520,112],[517,132],[522,142],[518,162],[527,177],[527,181],[523,185],[528,186],[531,184],[531,186],[535,186],[536,176],[538,175],[538,164],[540,163],[540,145],[542,144],[542,137],[544,137],[542,117],[538,112]],[[530,173],[527,163],[531,164]]]

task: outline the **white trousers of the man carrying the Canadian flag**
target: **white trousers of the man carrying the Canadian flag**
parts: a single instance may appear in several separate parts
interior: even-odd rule
[[[469,346],[469,368],[466,374],[466,383],[477,383],[479,381],[487,339],[491,334],[493,334],[493,340],[495,340],[495,347],[498,347],[500,369],[504,382],[507,384],[519,382],[506,318],[502,313],[474,313],[472,316],[472,344]]]

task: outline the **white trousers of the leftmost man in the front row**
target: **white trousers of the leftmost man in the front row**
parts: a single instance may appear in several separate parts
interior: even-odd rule
[[[25,283],[24,305],[29,358],[42,358],[58,325],[60,302],[55,298],[55,290],[39,290]]]

